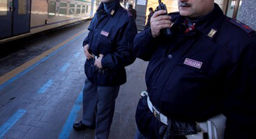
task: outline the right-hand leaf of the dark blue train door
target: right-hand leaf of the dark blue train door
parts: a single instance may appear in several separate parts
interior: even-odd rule
[[[30,0],[13,0],[13,35],[29,32]]]

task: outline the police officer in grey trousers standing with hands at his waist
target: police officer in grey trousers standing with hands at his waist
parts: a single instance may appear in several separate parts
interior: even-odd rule
[[[108,139],[119,86],[126,82],[125,66],[136,58],[131,51],[137,27],[119,0],[102,0],[88,30],[83,42],[83,118],[73,128],[96,128],[95,139]]]

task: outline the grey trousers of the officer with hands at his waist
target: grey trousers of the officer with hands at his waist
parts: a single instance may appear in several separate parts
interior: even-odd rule
[[[97,86],[85,79],[82,123],[96,125],[95,139],[108,139],[118,92],[119,86]]]

